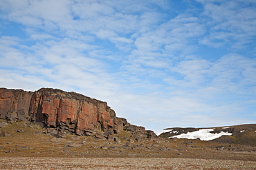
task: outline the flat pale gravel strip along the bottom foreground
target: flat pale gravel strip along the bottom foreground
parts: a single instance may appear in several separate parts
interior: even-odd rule
[[[0,158],[0,169],[256,169],[255,161],[188,158]]]

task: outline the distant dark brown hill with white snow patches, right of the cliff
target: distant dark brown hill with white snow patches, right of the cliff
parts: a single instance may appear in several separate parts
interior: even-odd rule
[[[211,140],[256,146],[256,124],[211,128],[173,127],[164,129],[159,137]]]

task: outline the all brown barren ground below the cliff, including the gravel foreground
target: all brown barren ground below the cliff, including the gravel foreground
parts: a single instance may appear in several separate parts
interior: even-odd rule
[[[17,132],[17,129],[22,129]],[[1,127],[0,169],[256,169],[256,147],[200,140],[54,138],[36,125]],[[129,140],[127,140],[129,139]]]

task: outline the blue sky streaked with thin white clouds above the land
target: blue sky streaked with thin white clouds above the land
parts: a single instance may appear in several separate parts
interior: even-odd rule
[[[1,0],[0,87],[107,101],[160,131],[256,123],[255,0]]]

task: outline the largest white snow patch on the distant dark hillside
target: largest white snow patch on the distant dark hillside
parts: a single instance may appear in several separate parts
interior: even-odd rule
[[[210,131],[213,131],[215,128],[213,129],[199,129],[198,131],[192,131],[192,132],[188,132],[187,134],[180,134],[180,135],[176,135],[176,136],[171,136],[169,138],[187,138],[187,139],[196,139],[196,138],[200,138],[200,140],[214,140],[217,139],[223,135],[227,135],[227,136],[231,136],[232,133],[228,133],[228,132],[223,132],[221,131],[219,134],[215,133],[212,134],[210,133]]]

